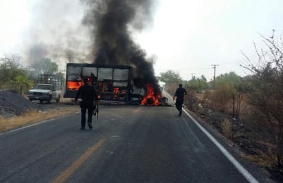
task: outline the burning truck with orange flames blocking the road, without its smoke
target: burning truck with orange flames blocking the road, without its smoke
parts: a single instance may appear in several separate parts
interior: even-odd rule
[[[76,97],[83,78],[95,86],[100,100],[159,105],[160,93],[156,95],[152,85],[141,78],[133,78],[130,66],[67,63],[65,98]]]

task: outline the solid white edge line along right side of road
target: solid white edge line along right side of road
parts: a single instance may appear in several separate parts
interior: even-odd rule
[[[247,169],[245,169],[234,157],[233,155],[231,155],[206,129],[204,129],[199,122],[197,122],[187,111],[185,111],[185,109],[183,109],[183,111],[185,112],[185,114],[187,114],[192,121],[194,122],[194,124],[196,124],[197,127],[199,127],[199,129],[201,129],[201,131],[203,131],[203,133],[205,133],[205,135],[210,138],[210,140],[212,140],[212,142],[216,145],[216,147],[218,147],[218,149],[225,155],[225,157],[232,163],[234,164],[234,166],[236,167],[236,169],[238,169],[238,171],[240,173],[242,173],[242,175],[249,181],[249,182],[253,182],[256,183],[258,182],[258,180],[256,180],[255,177],[253,177],[253,175],[251,175],[251,173],[249,173],[249,171],[247,171]]]

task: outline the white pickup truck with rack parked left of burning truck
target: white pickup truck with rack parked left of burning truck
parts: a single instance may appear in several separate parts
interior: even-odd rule
[[[44,101],[48,104],[51,100],[60,102],[62,92],[61,79],[55,75],[41,74],[38,75],[38,84],[34,85],[27,93],[27,97],[32,100],[39,100],[40,103]]]

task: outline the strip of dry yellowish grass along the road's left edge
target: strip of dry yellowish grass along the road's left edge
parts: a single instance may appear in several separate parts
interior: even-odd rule
[[[51,118],[66,116],[68,114],[73,114],[76,111],[80,111],[80,107],[76,105],[66,105],[48,111],[29,111],[22,116],[14,116],[12,118],[0,117],[0,132],[9,131],[25,125],[31,125]]]

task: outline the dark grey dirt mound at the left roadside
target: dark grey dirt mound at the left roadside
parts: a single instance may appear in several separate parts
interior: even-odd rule
[[[29,110],[40,110],[40,107],[20,94],[0,90],[0,116],[5,118],[20,116]]]

